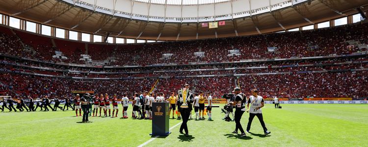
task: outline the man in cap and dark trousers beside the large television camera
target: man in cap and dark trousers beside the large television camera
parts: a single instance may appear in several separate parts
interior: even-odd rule
[[[235,131],[233,133],[237,134],[237,129],[239,129],[241,132],[240,137],[245,137],[247,135],[245,134],[243,127],[241,126],[240,119],[243,113],[246,111],[245,103],[247,100],[246,100],[245,95],[241,93],[239,87],[236,87],[234,91],[237,96],[235,96],[234,101],[229,102],[231,105],[235,106],[234,120],[235,120],[236,126],[235,126]]]

